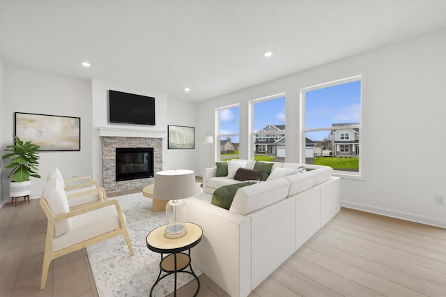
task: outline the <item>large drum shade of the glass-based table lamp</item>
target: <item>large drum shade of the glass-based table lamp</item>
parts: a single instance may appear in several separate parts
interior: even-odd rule
[[[155,173],[153,197],[160,200],[185,199],[197,194],[193,170],[176,169]]]

